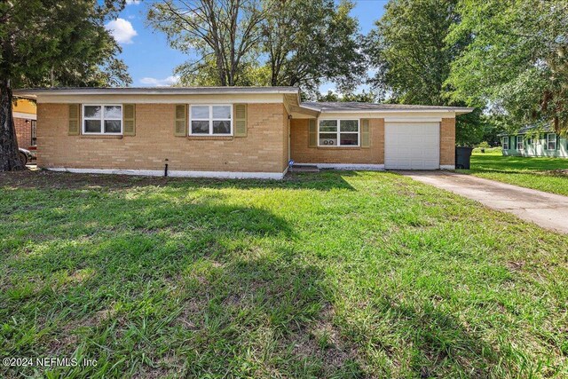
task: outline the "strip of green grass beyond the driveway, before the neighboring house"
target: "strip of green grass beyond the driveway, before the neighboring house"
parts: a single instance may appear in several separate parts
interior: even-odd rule
[[[568,195],[568,159],[503,156],[501,148],[474,150],[471,170],[459,172],[516,186]]]

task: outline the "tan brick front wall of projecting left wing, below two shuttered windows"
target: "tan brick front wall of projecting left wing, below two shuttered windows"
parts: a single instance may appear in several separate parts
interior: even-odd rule
[[[37,163],[44,168],[282,172],[282,104],[249,104],[248,135],[175,137],[174,105],[138,104],[136,136],[68,136],[68,106],[38,104]]]

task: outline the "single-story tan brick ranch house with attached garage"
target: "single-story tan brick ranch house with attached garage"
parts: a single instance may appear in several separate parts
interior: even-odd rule
[[[288,162],[361,170],[454,169],[465,107],[301,103],[295,87],[62,88],[37,99],[49,170],[283,178]]]

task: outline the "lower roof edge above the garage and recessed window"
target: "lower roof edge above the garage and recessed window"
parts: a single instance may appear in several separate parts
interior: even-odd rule
[[[375,104],[375,103],[358,103],[358,102],[316,102],[305,101],[300,104],[301,107],[312,108],[320,112],[335,111],[468,111],[473,108],[469,107],[438,107],[438,106],[413,106],[406,104]]]

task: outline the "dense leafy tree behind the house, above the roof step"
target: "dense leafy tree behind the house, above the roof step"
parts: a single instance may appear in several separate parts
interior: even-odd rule
[[[268,56],[271,85],[315,91],[323,80],[351,91],[365,75],[359,23],[350,1],[265,1],[262,50]]]

